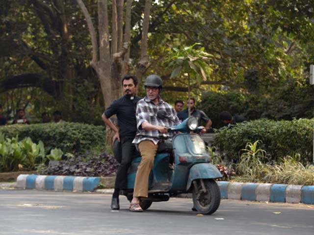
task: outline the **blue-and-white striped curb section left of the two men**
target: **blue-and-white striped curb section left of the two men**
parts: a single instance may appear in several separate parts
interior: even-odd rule
[[[98,188],[100,177],[19,175],[17,188],[39,190],[94,191]]]

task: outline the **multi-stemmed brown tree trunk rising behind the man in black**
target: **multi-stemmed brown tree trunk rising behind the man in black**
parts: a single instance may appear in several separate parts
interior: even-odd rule
[[[78,6],[85,16],[92,41],[92,61],[90,65],[96,71],[105,106],[121,96],[121,77],[127,73],[131,44],[131,6],[132,0],[112,0],[111,33],[109,33],[109,12],[107,0],[98,0],[98,35],[92,19],[82,0]],[[152,0],[145,0],[143,29],[141,39],[141,58],[137,65],[136,75],[140,80],[148,64],[147,41]],[[125,14],[125,24],[123,21]],[[124,32],[123,32],[124,28]],[[110,41],[111,40],[111,41]]]

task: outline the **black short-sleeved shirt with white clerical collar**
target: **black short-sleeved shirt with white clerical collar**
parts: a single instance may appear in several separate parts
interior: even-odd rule
[[[113,101],[104,112],[106,118],[117,115],[120,139],[135,137],[137,131],[135,113],[136,104],[139,100],[140,98],[137,96],[131,99],[131,96],[126,94]]]

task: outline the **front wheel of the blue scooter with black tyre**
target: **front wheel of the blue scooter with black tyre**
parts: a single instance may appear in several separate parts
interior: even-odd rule
[[[193,185],[192,198],[195,209],[202,214],[217,211],[220,205],[220,190],[217,183],[213,179],[201,179]]]

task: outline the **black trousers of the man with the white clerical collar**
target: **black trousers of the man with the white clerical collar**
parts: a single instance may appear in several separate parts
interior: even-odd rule
[[[128,168],[131,165],[132,159],[138,155],[138,151],[135,145],[132,144],[133,139],[121,140],[121,154],[117,153],[116,156],[118,162],[120,163],[114,188],[127,188],[127,174]],[[118,143],[119,144],[119,143]],[[121,157],[122,156],[122,157]],[[119,161],[121,157],[121,162]]]

